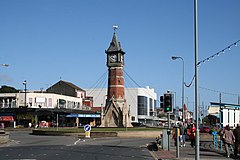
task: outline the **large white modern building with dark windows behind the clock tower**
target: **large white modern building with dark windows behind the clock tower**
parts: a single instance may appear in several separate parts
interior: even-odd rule
[[[93,107],[105,107],[107,89],[85,89],[87,96],[93,97]],[[125,99],[131,114],[131,122],[152,125],[156,117],[157,94],[149,88],[125,88]]]

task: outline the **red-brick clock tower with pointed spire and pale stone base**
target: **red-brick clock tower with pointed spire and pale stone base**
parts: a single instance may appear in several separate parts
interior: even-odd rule
[[[116,28],[115,28],[116,29]],[[130,108],[124,94],[124,54],[114,30],[107,54],[108,88],[106,106],[102,116],[102,127],[132,127]]]

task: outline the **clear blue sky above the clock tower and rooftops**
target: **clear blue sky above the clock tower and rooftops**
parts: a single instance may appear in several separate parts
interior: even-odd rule
[[[89,88],[107,71],[105,50],[117,24],[126,52],[125,71],[160,96],[177,93],[194,75],[193,0],[2,0],[0,1],[0,83],[46,89],[60,79]],[[240,39],[239,0],[199,0],[199,61]],[[237,103],[240,43],[199,68],[200,103]],[[126,80],[127,83],[127,80]],[[128,84],[126,84],[128,85]],[[129,87],[134,87],[130,86]],[[103,87],[103,86],[99,86]],[[224,94],[225,93],[225,94]],[[227,93],[227,94],[226,94]],[[229,94],[230,93],[230,94]],[[185,88],[193,109],[194,86]]]

